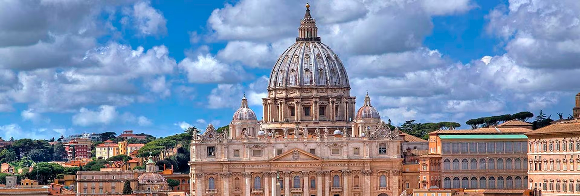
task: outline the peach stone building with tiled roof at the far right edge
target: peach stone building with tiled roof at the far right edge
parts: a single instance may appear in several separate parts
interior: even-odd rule
[[[580,119],[526,135],[530,189],[542,195],[580,195]]]

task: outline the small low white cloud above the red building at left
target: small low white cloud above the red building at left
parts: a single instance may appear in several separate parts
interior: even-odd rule
[[[90,126],[95,124],[110,124],[117,119],[119,113],[114,106],[102,105],[98,110],[89,110],[81,108],[73,116],[73,124],[81,126]]]

